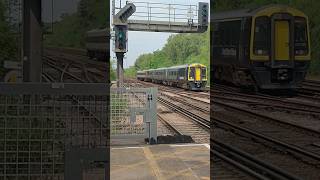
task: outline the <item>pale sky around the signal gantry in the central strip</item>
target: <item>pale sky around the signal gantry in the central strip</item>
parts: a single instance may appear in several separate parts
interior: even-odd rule
[[[116,0],[119,1],[119,0]],[[149,0],[148,2],[161,2],[166,4],[184,4],[184,5],[197,5],[198,2],[207,2],[210,0]],[[124,0],[122,0],[124,2]],[[134,1],[133,1],[134,2]],[[147,1],[145,1],[147,2]],[[112,7],[112,6],[110,6]],[[138,9],[137,9],[138,11]],[[111,11],[110,11],[111,12]],[[111,15],[110,15],[111,17]],[[136,18],[136,17],[134,17]],[[128,52],[124,59],[124,68],[134,65],[136,59],[145,53],[152,53],[158,49],[162,49],[167,42],[167,39],[172,33],[160,32],[132,32],[128,33]],[[115,57],[111,52],[111,58]]]

